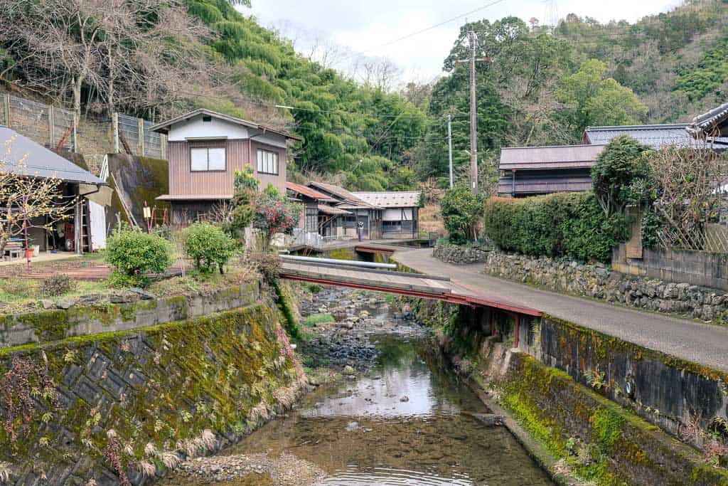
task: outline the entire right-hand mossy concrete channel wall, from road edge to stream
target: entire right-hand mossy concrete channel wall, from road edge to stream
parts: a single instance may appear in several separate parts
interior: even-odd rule
[[[707,434],[684,431],[727,419],[728,374],[548,315],[521,316],[517,339],[512,314],[411,306],[443,329],[440,345],[454,367],[494,393],[553,455],[569,458],[583,447],[607,458],[578,472],[609,471],[614,484],[728,485],[727,471],[703,468],[703,455],[675,440],[700,447]]]

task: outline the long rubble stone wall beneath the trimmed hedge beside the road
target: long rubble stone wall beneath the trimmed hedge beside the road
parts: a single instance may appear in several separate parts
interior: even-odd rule
[[[485,271],[508,280],[607,302],[620,302],[630,307],[720,323],[728,319],[728,294],[725,291],[625,275],[604,264],[580,264],[490,251]]]

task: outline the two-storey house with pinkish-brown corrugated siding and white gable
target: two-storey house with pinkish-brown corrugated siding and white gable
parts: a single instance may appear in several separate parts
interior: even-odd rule
[[[171,222],[186,225],[205,219],[216,205],[232,199],[235,171],[253,168],[261,189],[268,184],[285,193],[288,143],[301,138],[256,122],[197,109],[151,130],[167,135]]]

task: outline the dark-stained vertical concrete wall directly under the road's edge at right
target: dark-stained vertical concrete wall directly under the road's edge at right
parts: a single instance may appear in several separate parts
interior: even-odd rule
[[[675,436],[692,420],[706,428],[728,418],[724,372],[550,316],[542,319],[533,354]]]

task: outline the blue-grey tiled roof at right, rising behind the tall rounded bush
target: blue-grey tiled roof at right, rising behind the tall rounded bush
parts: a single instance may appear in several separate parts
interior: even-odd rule
[[[619,135],[627,135],[637,141],[651,146],[653,149],[660,149],[667,145],[677,145],[695,148],[709,148],[710,143],[697,141],[690,136],[687,129],[688,123],[670,123],[666,125],[624,125],[609,127],[589,127],[584,130],[584,141],[597,145],[609,144],[612,138]],[[716,138],[716,143],[728,144],[728,138]],[[723,146],[716,146],[716,149],[724,149]]]

